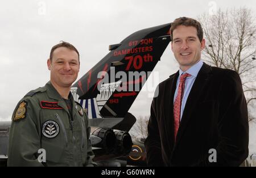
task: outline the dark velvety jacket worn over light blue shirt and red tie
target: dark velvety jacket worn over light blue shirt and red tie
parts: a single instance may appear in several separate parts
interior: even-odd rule
[[[247,105],[239,75],[203,64],[189,93],[174,142],[179,71],[159,84],[145,141],[148,166],[239,166],[248,156]],[[210,149],[217,162],[210,163]],[[210,156],[210,158],[214,158]]]

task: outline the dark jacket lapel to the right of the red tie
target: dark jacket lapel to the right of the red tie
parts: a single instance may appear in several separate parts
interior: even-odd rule
[[[206,63],[203,64],[199,73],[197,74],[196,80],[193,83],[191,91],[189,92],[189,96],[187,102],[185,104],[185,108],[183,111],[183,116],[181,118],[179,130],[177,132],[176,145],[179,143],[182,134],[184,133],[185,128],[188,125],[189,120],[191,119],[191,114],[194,111],[195,107],[199,102],[199,95],[203,92],[204,87],[207,86],[209,81],[211,68]]]

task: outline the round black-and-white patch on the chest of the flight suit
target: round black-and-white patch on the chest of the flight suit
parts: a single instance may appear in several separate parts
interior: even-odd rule
[[[51,120],[44,122],[42,133],[45,137],[54,138],[59,134],[59,132],[60,128],[57,122]]]

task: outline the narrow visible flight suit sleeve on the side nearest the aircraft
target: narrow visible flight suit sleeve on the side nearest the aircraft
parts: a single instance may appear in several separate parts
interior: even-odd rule
[[[89,118],[87,116],[86,113],[85,117],[86,117],[86,135],[87,135],[87,158],[86,158],[86,167],[93,167],[93,166],[97,166],[97,164],[95,162],[93,162],[93,158],[94,158],[94,153],[92,151],[92,143],[90,142],[90,121]]]

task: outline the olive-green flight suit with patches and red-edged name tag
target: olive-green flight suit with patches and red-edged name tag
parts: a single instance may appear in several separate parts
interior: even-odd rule
[[[12,116],[7,166],[95,164],[88,116],[69,95],[72,116],[51,82],[28,92],[20,100]],[[44,149],[46,154],[39,149]]]

